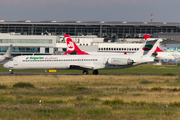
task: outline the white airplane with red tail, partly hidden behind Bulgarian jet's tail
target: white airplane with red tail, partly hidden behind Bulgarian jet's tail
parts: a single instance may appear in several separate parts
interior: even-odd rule
[[[151,38],[149,35],[144,35],[145,40]],[[157,60],[165,60],[165,63],[170,62],[169,64],[172,64],[173,61],[176,64],[180,63],[180,53],[179,52],[164,52],[159,47],[154,51],[156,52],[155,59]]]

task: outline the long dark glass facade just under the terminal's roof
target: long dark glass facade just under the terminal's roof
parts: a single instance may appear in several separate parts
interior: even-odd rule
[[[143,34],[154,33],[178,33],[178,23],[122,23],[122,22],[82,22],[82,23],[25,23],[25,22],[3,22],[0,23],[0,33],[20,33],[22,35],[42,35],[51,33],[53,35],[69,34],[97,35],[98,37],[115,40],[117,38],[143,38]],[[32,41],[32,40],[30,40]],[[17,42],[17,41],[14,41]],[[28,42],[28,41],[26,41]],[[45,43],[48,43],[46,41]],[[40,42],[38,42],[40,43]]]

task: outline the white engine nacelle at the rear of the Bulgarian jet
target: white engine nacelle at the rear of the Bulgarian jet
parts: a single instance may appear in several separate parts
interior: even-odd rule
[[[134,61],[126,58],[109,58],[108,63],[110,65],[132,65]]]

